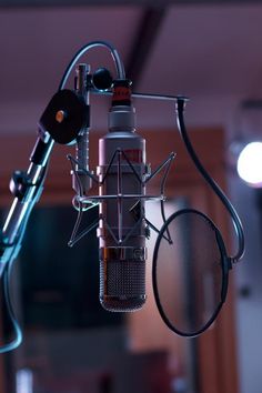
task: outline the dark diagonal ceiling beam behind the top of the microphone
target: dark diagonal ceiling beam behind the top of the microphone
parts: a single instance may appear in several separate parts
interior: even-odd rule
[[[133,82],[133,89],[135,89],[139,79],[142,77],[145,62],[159,34],[164,14],[164,8],[149,8],[143,12],[142,21],[135,33],[125,67],[127,78]]]

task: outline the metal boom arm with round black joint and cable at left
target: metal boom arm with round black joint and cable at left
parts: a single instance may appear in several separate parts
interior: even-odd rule
[[[74,141],[80,130],[87,127],[88,119],[89,107],[82,95],[71,90],[58,91],[39,121],[39,137],[30,155],[28,171],[14,171],[11,178],[10,190],[14,200],[0,232],[0,279],[3,283],[3,299],[13,326],[14,339],[0,346],[0,353],[18,347],[22,341],[21,329],[10,299],[11,268],[21,249],[29,216],[43,191],[53,144],[60,140],[64,144]]]

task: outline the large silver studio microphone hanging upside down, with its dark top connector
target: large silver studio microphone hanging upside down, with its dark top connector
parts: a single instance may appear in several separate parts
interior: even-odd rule
[[[100,302],[130,312],[145,302],[145,140],[135,133],[128,80],[114,82],[109,132],[99,141]]]

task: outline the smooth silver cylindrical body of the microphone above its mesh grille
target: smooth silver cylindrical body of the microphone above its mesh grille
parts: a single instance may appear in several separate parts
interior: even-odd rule
[[[121,147],[121,149],[119,149]],[[100,139],[100,165],[98,168],[100,181],[100,226],[108,226],[118,239],[118,245],[123,241],[124,233],[131,231],[138,218],[134,216],[132,208],[140,201],[138,211],[141,218],[143,215],[145,187],[143,175],[145,172],[145,141],[132,131],[112,131]],[[124,154],[131,158],[132,168],[127,163]],[[138,161],[138,162],[135,162]],[[137,177],[134,172],[137,173]],[[110,198],[112,196],[112,198]],[[105,202],[107,200],[107,202]],[[123,216],[124,214],[124,216]],[[143,234],[143,224],[134,231],[130,245],[135,244],[135,235]],[[105,232],[107,229],[105,229]],[[103,244],[105,243],[105,244]],[[108,233],[105,238],[100,238],[100,246],[114,246],[115,241]],[[144,244],[140,244],[144,245]]]

